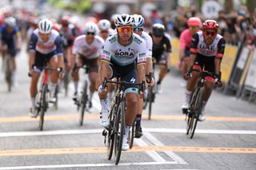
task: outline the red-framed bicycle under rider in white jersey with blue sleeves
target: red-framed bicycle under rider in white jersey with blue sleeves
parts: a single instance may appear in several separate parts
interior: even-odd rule
[[[53,69],[50,66],[43,66],[43,67],[34,66],[33,69],[43,69],[42,82],[40,85],[39,93],[37,94],[37,97],[36,97],[36,99],[37,99],[36,112],[37,112],[37,115],[39,114],[39,129],[42,131],[43,124],[44,124],[44,116],[45,116],[46,110],[49,108],[49,102],[51,102],[49,100],[50,90],[48,89],[48,71],[49,70],[57,70],[58,72],[61,72],[62,68]],[[29,73],[29,76],[31,77],[30,73]],[[58,88],[56,88],[54,90],[54,96],[58,98]],[[58,105],[57,98],[56,98],[55,102],[51,102],[51,103],[54,103],[54,105]]]

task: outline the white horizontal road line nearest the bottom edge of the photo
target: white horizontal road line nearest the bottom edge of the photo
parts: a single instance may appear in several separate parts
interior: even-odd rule
[[[161,165],[161,164],[174,164],[174,162],[132,162],[132,163],[119,163],[120,166],[132,165]],[[0,170],[14,170],[14,169],[43,169],[43,168],[86,168],[86,167],[117,167],[116,164],[55,164],[55,165],[34,165],[34,166],[18,166],[18,167],[2,167]],[[184,169],[173,169],[184,170]],[[186,169],[196,170],[196,169]]]

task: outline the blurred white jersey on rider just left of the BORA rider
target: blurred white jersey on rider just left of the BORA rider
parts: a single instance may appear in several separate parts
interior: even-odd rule
[[[98,35],[95,35],[94,42],[88,44],[86,35],[80,35],[74,40],[72,49],[73,54],[79,54],[86,59],[94,59],[101,55],[104,45],[104,40]]]

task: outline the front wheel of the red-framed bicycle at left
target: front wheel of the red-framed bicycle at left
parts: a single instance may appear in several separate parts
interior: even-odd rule
[[[47,109],[47,105],[46,105],[46,93],[47,93],[47,85],[42,85],[42,93],[41,93],[41,97],[40,97],[40,115],[39,115],[39,128],[42,131],[43,130],[43,124],[44,124],[44,117],[45,117],[45,112]]]

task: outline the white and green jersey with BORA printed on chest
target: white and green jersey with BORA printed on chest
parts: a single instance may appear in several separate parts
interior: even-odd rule
[[[134,63],[146,63],[146,42],[137,34],[132,35],[130,45],[121,45],[118,42],[118,34],[113,34],[106,39],[102,52],[102,61],[113,62],[119,66],[126,66]]]

